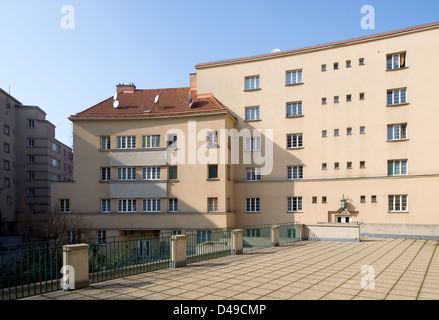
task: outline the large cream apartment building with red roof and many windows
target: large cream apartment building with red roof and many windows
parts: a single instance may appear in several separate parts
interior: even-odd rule
[[[52,208],[100,237],[284,222],[437,236],[438,38],[434,23],[198,64],[188,88],[119,85],[70,118],[75,182],[54,184]]]

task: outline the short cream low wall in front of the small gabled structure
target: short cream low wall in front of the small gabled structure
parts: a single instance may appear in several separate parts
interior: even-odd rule
[[[360,226],[356,224],[302,225],[302,240],[360,242]]]

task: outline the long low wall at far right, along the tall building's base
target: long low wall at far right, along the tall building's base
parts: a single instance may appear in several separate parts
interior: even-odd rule
[[[439,225],[362,223],[361,236],[439,240]]]

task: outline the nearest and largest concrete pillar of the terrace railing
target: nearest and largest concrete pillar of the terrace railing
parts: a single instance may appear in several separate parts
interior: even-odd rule
[[[75,290],[90,285],[88,257],[90,245],[74,244],[63,246],[63,267],[61,287],[64,290]]]

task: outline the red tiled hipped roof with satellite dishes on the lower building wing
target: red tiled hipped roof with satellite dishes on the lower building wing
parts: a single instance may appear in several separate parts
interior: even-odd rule
[[[113,118],[152,118],[207,113],[229,113],[212,94],[195,97],[189,103],[190,88],[169,88],[152,90],[135,90],[134,93],[119,93],[119,106],[114,108],[114,98],[70,117],[76,119],[113,119]],[[156,104],[156,96],[159,102]],[[229,113],[230,114],[230,113]]]

